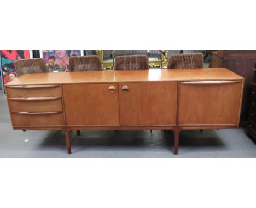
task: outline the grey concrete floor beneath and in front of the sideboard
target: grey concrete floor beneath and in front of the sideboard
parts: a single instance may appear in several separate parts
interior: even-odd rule
[[[13,130],[0,95],[0,157],[256,157],[243,128],[182,131],[177,156],[172,131],[81,131],[79,137],[73,131],[71,144],[68,155],[61,131]]]

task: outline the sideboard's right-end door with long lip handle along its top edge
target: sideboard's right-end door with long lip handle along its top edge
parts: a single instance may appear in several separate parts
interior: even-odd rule
[[[179,84],[178,124],[237,125],[242,81]]]

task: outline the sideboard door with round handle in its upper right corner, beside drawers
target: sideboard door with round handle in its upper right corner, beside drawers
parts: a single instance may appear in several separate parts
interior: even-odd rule
[[[68,126],[119,125],[118,84],[63,85]]]

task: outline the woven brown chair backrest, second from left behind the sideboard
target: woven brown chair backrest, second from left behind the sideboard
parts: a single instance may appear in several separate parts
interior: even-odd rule
[[[69,71],[101,71],[101,60],[97,55],[72,56],[69,58]]]

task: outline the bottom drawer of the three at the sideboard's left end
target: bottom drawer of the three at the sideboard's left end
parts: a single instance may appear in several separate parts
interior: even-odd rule
[[[11,113],[13,126],[60,126],[64,125],[63,113]]]

